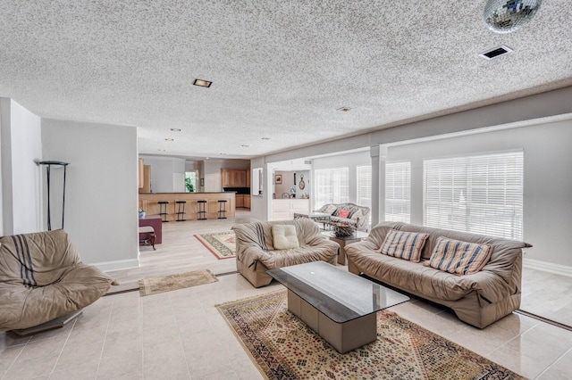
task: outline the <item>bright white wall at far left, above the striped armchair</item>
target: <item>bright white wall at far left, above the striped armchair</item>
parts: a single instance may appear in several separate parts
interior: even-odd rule
[[[0,99],[3,235],[42,229],[40,118],[11,99]]]

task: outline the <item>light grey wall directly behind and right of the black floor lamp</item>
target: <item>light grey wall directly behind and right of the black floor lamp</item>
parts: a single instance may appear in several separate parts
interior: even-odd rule
[[[46,161],[70,162],[65,229],[81,259],[139,266],[137,128],[43,119],[42,142]]]

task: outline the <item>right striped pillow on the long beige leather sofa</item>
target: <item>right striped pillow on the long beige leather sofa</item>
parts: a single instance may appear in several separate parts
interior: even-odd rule
[[[462,242],[444,236],[437,238],[431,258],[425,265],[455,275],[472,275],[491,259],[492,245]]]

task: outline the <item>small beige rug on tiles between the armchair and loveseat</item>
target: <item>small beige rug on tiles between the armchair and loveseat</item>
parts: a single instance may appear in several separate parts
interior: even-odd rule
[[[178,273],[164,277],[144,278],[139,280],[139,295],[151,295],[170,292],[186,287],[205,285],[218,281],[208,269],[194,270],[192,272]]]

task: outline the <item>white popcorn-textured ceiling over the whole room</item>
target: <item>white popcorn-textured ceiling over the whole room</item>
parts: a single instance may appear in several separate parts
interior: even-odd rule
[[[0,96],[139,127],[140,153],[248,158],[572,85],[572,2],[504,35],[484,3],[2,0]]]

